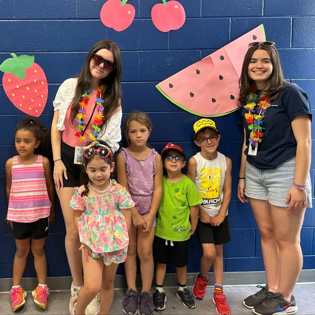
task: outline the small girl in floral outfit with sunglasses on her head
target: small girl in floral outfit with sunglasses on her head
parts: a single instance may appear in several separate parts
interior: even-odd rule
[[[134,202],[126,188],[110,179],[114,162],[106,142],[94,141],[84,149],[83,166],[83,185],[75,188],[70,207],[81,242],[84,286],[71,314],[86,314],[99,291],[100,314],[109,314],[116,270],[127,255]]]

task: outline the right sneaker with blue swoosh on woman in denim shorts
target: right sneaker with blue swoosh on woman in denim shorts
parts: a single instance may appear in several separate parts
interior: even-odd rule
[[[291,301],[288,302],[281,293],[277,292],[273,297],[253,307],[252,312],[256,315],[292,315],[298,312],[298,306],[293,295]]]

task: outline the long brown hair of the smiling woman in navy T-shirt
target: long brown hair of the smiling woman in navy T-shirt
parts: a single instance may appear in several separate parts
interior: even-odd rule
[[[277,50],[274,47],[266,46],[263,44],[259,44],[254,47],[250,47],[245,55],[241,76],[239,78],[239,107],[243,107],[246,104],[248,95],[250,94],[251,87],[254,84],[254,81],[250,78],[248,74],[248,65],[251,61],[252,54],[257,49],[266,50],[270,56],[270,60],[272,63],[272,72],[271,76],[266,83],[264,89],[260,93],[260,97],[268,96],[269,99],[276,99],[285,85],[289,84],[285,81],[284,75],[282,73],[282,68],[279,60],[279,55]]]

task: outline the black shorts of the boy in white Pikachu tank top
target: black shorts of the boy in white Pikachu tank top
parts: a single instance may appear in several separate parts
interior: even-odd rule
[[[200,244],[221,245],[231,241],[227,216],[219,226],[212,226],[211,224],[203,223],[198,219],[196,232]]]

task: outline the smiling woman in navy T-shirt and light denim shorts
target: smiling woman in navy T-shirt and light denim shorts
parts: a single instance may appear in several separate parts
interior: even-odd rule
[[[295,314],[302,268],[300,231],[311,198],[307,94],[284,80],[272,42],[252,43],[240,77],[244,144],[238,198],[250,200],[261,234],[267,285],[244,299],[254,314]]]

